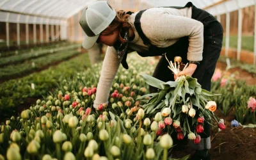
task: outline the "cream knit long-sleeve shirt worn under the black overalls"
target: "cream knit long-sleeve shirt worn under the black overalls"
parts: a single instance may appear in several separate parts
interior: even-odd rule
[[[141,29],[150,40],[150,44],[157,47],[168,47],[175,44],[183,36],[189,37],[188,60],[201,61],[204,46],[204,25],[202,22],[191,19],[191,7],[150,8],[141,15]],[[129,42],[133,51],[147,52],[149,46],[143,44],[134,27],[136,13],[132,14],[129,22],[134,31],[134,40]],[[114,47],[108,47],[103,61],[96,99],[93,107],[108,103],[109,90],[120,65]]]

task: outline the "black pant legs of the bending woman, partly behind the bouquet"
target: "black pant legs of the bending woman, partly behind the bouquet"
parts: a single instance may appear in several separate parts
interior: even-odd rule
[[[192,77],[195,77],[205,90],[211,90],[211,78],[216,68],[216,63],[220,57],[220,51],[223,40],[223,28],[210,13],[193,8],[192,19],[198,20],[204,24],[204,51],[203,60],[196,68]],[[188,63],[188,37],[182,37],[178,42],[168,47],[166,56],[168,60],[174,60],[175,56],[180,56],[183,63]],[[172,71],[168,68],[168,61],[164,56],[159,60],[154,71],[153,77],[164,82],[174,81]],[[157,88],[150,86],[150,92],[157,92]],[[204,132],[200,134],[201,138],[208,138],[210,136],[210,125],[204,124]],[[174,135],[174,137],[177,137]]]

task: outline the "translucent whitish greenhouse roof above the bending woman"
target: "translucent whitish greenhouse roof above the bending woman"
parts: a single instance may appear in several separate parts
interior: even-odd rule
[[[54,24],[67,21],[97,0],[1,0],[0,21]],[[190,0],[196,7],[212,15],[232,12],[255,4],[255,0]],[[108,0],[115,9],[143,10],[154,6],[184,6],[189,0]]]

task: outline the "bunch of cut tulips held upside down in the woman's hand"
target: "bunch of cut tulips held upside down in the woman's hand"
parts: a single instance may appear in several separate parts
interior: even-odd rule
[[[180,57],[175,57],[174,63],[169,60],[168,62],[168,68],[175,76],[188,66],[182,64]],[[143,109],[148,116],[155,115],[155,120],[159,119],[158,135],[164,130],[170,134],[177,131],[178,140],[188,134],[190,140],[200,143],[199,133],[204,132],[204,122],[211,125],[217,123],[220,129],[225,129],[225,125],[214,115],[216,102],[212,101],[211,97],[218,94],[202,89],[197,79],[182,75],[177,76],[175,81],[163,82],[147,74],[141,76],[150,86],[159,89],[157,93],[143,95],[137,99],[144,102]]]

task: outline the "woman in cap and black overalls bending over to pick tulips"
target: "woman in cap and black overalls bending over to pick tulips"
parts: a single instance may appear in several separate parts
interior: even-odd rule
[[[197,78],[205,90],[211,90],[211,77],[220,56],[223,29],[211,14],[186,4],[183,8],[150,8],[138,13],[115,12],[106,1],[98,1],[86,8],[79,20],[86,33],[83,47],[90,49],[95,42],[108,45],[102,65],[93,107],[108,103],[109,91],[120,63],[128,68],[126,57],[130,51],[141,56],[161,56],[168,60],[181,56],[188,68],[179,73]],[[153,76],[162,81],[173,81],[168,61],[162,56]],[[150,87],[150,92],[157,92]],[[210,125],[204,133],[192,159],[210,159]],[[190,143],[189,143],[190,144]]]

